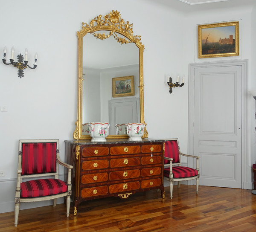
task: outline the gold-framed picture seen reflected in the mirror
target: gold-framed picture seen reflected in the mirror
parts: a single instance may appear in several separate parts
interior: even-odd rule
[[[134,95],[134,76],[112,78],[112,96],[124,97]]]

